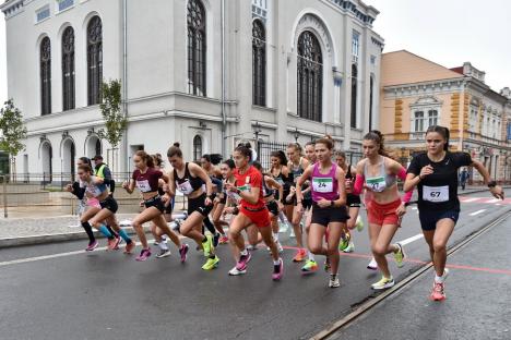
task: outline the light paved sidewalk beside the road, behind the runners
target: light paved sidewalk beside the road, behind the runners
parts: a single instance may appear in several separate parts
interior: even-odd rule
[[[460,189],[459,193],[464,195],[475,192],[484,193],[488,189],[466,186],[465,191]],[[78,216],[58,215],[50,207],[10,208],[9,216],[5,219],[2,214],[0,218],[0,247],[86,239],[79,226]],[[118,214],[117,219],[122,226],[122,221],[132,220],[135,214]],[[133,232],[130,227],[127,230]]]

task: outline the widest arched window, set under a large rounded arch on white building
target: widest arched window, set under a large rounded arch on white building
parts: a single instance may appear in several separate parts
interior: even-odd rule
[[[306,31],[298,38],[298,116],[321,121],[323,58],[316,36]]]

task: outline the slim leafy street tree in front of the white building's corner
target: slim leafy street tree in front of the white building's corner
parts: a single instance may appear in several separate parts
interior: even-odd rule
[[[105,127],[98,131],[100,138],[107,139],[114,149],[117,149],[122,134],[128,127],[128,119],[121,112],[121,83],[119,80],[102,83],[102,110]]]

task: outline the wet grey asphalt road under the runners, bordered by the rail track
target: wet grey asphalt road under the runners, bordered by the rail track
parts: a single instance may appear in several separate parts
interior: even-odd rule
[[[485,203],[488,193],[467,196],[475,197],[485,199],[462,204],[451,242],[511,209],[508,203]],[[397,269],[390,260],[397,280],[428,260],[418,234],[417,212],[408,208],[395,241],[411,242],[405,245],[411,262]],[[83,242],[2,250],[0,339],[307,339],[372,294],[370,284],[380,277],[366,269],[367,231],[355,232],[354,241],[355,253],[342,256],[342,287],[335,290],[326,287],[322,270],[302,276],[301,265],[292,263],[293,248],[284,253],[281,282],[271,280],[264,248],[242,277],[227,276],[234,259],[226,245],[218,248],[219,268],[209,272],[201,270],[203,257],[195,251],[181,265],[176,248],[170,257],[146,263],[121,252],[84,254],[79,252]],[[285,244],[293,246],[293,239]],[[417,293],[419,303],[428,303],[428,293],[427,287]],[[416,314],[402,316],[403,325],[419,320]]]

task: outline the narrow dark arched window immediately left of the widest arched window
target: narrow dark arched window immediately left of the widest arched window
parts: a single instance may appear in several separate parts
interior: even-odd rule
[[[266,32],[260,20],[252,24],[252,104],[266,106]]]

